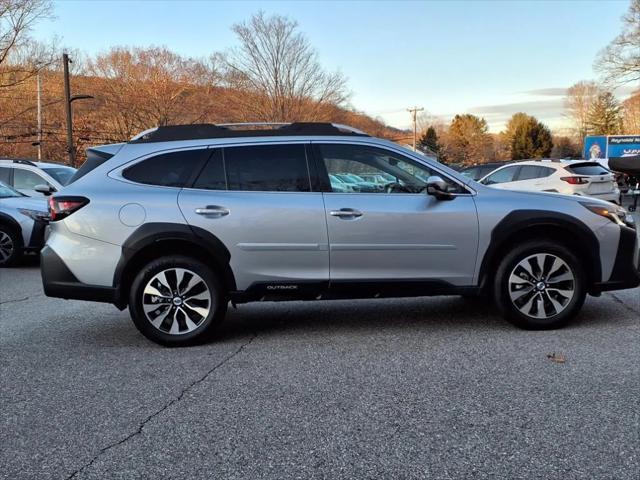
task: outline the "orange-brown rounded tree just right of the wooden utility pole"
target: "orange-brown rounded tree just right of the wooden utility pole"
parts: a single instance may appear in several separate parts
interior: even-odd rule
[[[484,163],[491,159],[492,138],[484,118],[456,115],[447,132],[445,154],[453,163]]]

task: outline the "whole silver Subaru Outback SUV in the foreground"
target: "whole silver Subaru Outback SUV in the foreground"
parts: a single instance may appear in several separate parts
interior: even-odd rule
[[[49,209],[46,294],[129,307],[164,345],[208,337],[229,302],[487,295],[543,329],[640,284],[620,207],[488,188],[342,125],[149,130],[90,149]]]

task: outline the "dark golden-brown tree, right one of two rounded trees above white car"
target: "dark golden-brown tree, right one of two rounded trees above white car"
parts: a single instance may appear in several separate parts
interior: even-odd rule
[[[507,123],[511,159],[544,158],[551,154],[551,131],[537,118],[525,113],[514,114]]]

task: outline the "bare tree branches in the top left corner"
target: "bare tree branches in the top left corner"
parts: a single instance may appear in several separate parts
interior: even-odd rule
[[[53,49],[29,37],[50,13],[49,0],[0,0],[0,88],[18,85],[51,64]]]

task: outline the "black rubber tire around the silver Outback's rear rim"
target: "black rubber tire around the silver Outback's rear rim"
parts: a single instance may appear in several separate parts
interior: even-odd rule
[[[156,275],[163,275],[162,272],[168,272],[165,274],[167,275],[164,277],[165,279],[175,278],[175,274],[170,273],[172,269],[184,269],[191,274],[195,273],[200,277],[200,280],[204,282],[208,288],[208,292],[210,293],[210,301],[207,307],[208,313],[206,316],[194,314],[193,309],[190,307],[188,309],[185,308],[189,306],[186,300],[184,301],[184,304],[181,303],[176,306],[174,303],[175,297],[169,301],[165,300],[166,297],[160,297],[157,295],[146,294],[145,296],[144,290],[148,287],[149,282],[155,281],[156,283],[154,283],[154,285],[157,285],[157,280],[154,280]],[[182,278],[184,279],[188,277],[186,274],[183,274]],[[197,279],[197,277],[193,275],[191,278]],[[199,280],[197,280],[197,282],[198,284],[200,283]],[[171,284],[172,282],[168,283]],[[177,282],[174,281],[173,283],[175,284]],[[196,286],[198,286],[198,284],[196,284]],[[165,293],[165,290],[162,290],[162,292],[159,293]],[[148,302],[147,305],[150,306],[150,308],[153,308],[151,303],[155,303],[155,300],[152,297],[156,297],[155,300],[166,302],[158,304],[158,310],[160,313],[156,318],[161,317],[164,312],[167,312],[167,319],[163,320],[161,325],[158,327],[151,323],[151,320],[147,317],[143,308],[143,302],[145,301]],[[152,300],[153,302],[151,302]],[[224,320],[224,316],[227,311],[227,304],[228,294],[224,290],[222,282],[220,282],[215,273],[199,260],[182,255],[161,257],[145,265],[133,280],[129,293],[129,312],[136,328],[149,340],[159,343],[160,345],[171,347],[194,345],[209,340],[215,332],[216,327],[218,327],[222,320]],[[165,306],[168,307],[170,311],[165,310]],[[177,310],[180,311],[176,313]],[[198,317],[199,322],[192,323],[193,325],[197,325],[195,329],[190,331],[188,330],[189,327],[185,323],[185,312],[188,312],[190,315],[194,314]],[[150,312],[150,315],[154,314],[155,311]],[[169,317],[172,317],[172,319]],[[181,327],[185,327],[184,333],[170,333],[167,331],[167,328],[173,328],[174,322],[178,323],[177,328],[179,329]],[[169,324],[171,324],[171,327],[168,326]]]

